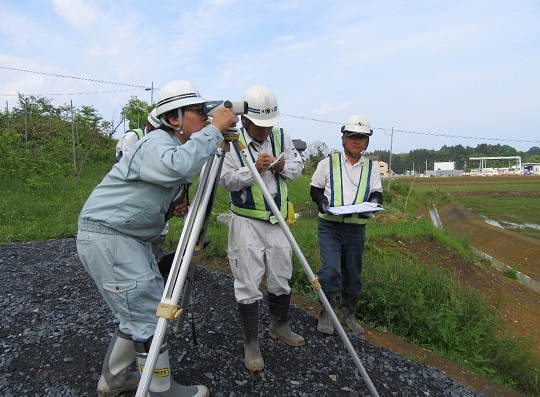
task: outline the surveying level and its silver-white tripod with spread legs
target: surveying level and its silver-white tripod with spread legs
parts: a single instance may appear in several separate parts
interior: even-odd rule
[[[213,101],[205,103],[203,112],[205,112],[205,114],[208,116],[213,116],[218,107],[224,106],[231,108],[236,115],[242,115],[247,113],[247,105],[248,104],[246,102]],[[326,298],[317,277],[313,274],[313,271],[302,253],[302,250],[296,243],[296,240],[287,226],[285,219],[274,202],[272,195],[268,191],[268,188],[264,184],[259,172],[255,168],[255,164],[251,159],[251,155],[247,147],[238,141],[238,131],[235,128],[229,128],[225,133],[223,133],[223,136],[224,141],[220,150],[206,162],[200,173],[195,196],[190,204],[190,211],[185,218],[184,227],[182,228],[180,240],[174,254],[174,259],[171,263],[171,269],[167,277],[161,302],[158,305],[156,312],[158,323],[152,339],[150,350],[148,352],[144,370],[141,374],[141,380],[137,388],[136,397],[146,397],[148,395],[147,393],[150,389],[150,383],[156,367],[159,351],[167,334],[168,326],[172,325],[174,330],[178,331],[180,324],[185,318],[186,307],[189,303],[189,294],[191,292],[192,280],[195,273],[195,265],[199,263],[202,256],[202,251],[205,246],[206,231],[208,229],[208,224],[211,217],[212,204],[215,198],[221,168],[223,166],[225,155],[230,152],[231,145],[237,145],[245,164],[247,164],[253,178],[255,179],[255,182],[260,187],[264,198],[270,205],[270,208],[281,226],[285,236],[287,237],[287,240],[291,244],[291,247],[302,264],[310,284],[317,292],[320,302],[330,315],[335,329],[343,340],[343,343],[350,353],[356,367],[360,371],[360,374],[366,383],[371,396],[379,397],[375,386],[371,382],[371,379],[364,369],[364,366],[358,358],[358,355],[347,337],[347,334],[343,330],[343,327],[332,309],[332,306],[330,306],[330,303],[328,302],[328,299]],[[185,191],[185,189],[181,191],[177,198],[175,198],[173,201],[171,208],[174,208],[176,203],[182,202],[186,194],[187,191]]]

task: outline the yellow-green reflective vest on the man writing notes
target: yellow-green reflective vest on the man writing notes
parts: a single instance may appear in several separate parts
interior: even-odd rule
[[[238,140],[247,147],[249,155],[251,156],[251,161],[255,163],[255,157],[251,149],[246,144],[244,128],[240,128],[238,134]],[[269,135],[270,142],[272,144],[272,155],[274,157],[279,156],[283,152],[283,129],[282,128],[273,128],[272,132]],[[238,149],[238,145],[233,145],[238,157],[240,158],[240,163],[243,167],[246,167],[242,153]],[[278,193],[274,199],[279,212],[283,218],[287,217],[287,194],[285,192],[285,178],[279,175],[277,172],[274,173],[276,178],[276,183],[278,185]],[[237,215],[245,216],[248,218],[261,219],[263,221],[269,221],[274,224],[277,223],[277,219],[272,212],[272,209],[268,205],[261,188],[257,183],[246,188],[246,201],[242,203],[241,192],[231,192],[231,211]]]

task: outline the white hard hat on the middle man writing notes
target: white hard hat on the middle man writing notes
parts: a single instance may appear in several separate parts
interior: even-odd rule
[[[273,127],[280,123],[281,115],[277,105],[277,99],[272,90],[257,84],[246,90],[242,98],[248,104],[248,112],[245,115],[259,127]]]

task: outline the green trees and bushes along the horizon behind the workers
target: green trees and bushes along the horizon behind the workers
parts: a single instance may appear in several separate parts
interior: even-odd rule
[[[119,129],[138,128],[146,124],[152,106],[132,97],[120,114],[104,120],[92,106],[74,108],[53,106],[45,97],[19,95],[17,105],[0,111],[0,178],[14,178],[27,185],[47,183],[48,177],[78,177],[85,164],[114,163],[114,140]],[[321,141],[308,142],[302,154],[306,170],[313,170],[331,150]],[[390,163],[390,152],[375,150],[366,153]],[[456,169],[469,171],[478,162],[470,157],[521,156],[523,162],[540,162],[540,148],[519,152],[508,145],[480,144],[443,146],[440,150],[415,149],[409,153],[392,153],[392,171],[423,173],[432,170],[435,162],[453,161]],[[508,167],[508,160],[490,162],[493,167]],[[512,164],[513,165],[513,164]]]

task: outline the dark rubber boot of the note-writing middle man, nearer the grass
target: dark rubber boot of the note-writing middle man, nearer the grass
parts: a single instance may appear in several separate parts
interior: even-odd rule
[[[268,312],[270,313],[270,332],[272,339],[279,339],[289,346],[304,346],[304,337],[291,331],[289,327],[289,306],[291,294],[274,295],[268,293]]]

